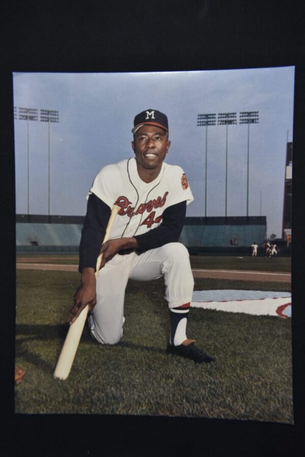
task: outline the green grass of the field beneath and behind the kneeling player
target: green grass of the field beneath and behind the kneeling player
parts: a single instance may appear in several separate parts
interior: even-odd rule
[[[231,258],[231,268],[237,268],[237,260]],[[256,260],[247,258],[247,265]],[[279,271],[289,271],[288,258],[262,258],[266,266],[273,260],[270,270],[277,271],[283,260]],[[214,364],[196,365],[165,353],[169,319],[162,280],[130,281],[121,342],[99,345],[84,331],[69,378],[53,379],[79,277],[77,272],[17,271],[16,365],[25,375],[15,387],[16,413],[293,422],[290,319],[191,308],[189,338],[216,357]],[[216,288],[289,291],[290,285],[195,279],[196,290]]]

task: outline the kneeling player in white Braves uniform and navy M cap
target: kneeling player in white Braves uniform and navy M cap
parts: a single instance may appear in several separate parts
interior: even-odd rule
[[[90,334],[99,343],[117,343],[123,335],[128,280],[163,276],[170,316],[166,351],[198,363],[213,362],[186,334],[194,279],[188,250],[178,238],[186,207],[194,199],[184,171],[164,162],[171,144],[167,116],[142,111],[134,118],[132,133],[134,157],[104,167],[87,195],[79,247],[81,281],[70,323],[88,304]],[[101,248],[113,204],[120,210]]]

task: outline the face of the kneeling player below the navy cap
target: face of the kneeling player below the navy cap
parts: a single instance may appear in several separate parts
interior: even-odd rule
[[[131,143],[138,164],[147,170],[161,170],[162,162],[169,150],[170,141],[163,128],[143,125]]]

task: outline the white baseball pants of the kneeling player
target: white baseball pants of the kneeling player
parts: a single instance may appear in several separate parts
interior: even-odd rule
[[[92,336],[99,343],[117,343],[123,334],[128,280],[149,281],[162,276],[169,308],[192,301],[194,278],[183,244],[168,243],[140,255],[116,254],[97,275],[97,304],[88,322]]]

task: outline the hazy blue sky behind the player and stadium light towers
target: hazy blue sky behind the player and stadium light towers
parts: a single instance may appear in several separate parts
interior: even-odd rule
[[[134,116],[157,109],[169,119],[169,164],[186,172],[203,216],[205,127],[197,114],[236,112],[228,127],[228,216],[247,212],[248,126],[240,111],[259,111],[250,125],[249,215],[267,216],[267,235],[282,234],[285,159],[293,141],[294,67],[159,73],[14,73],[14,106],[57,110],[50,124],[51,214],[84,215],[86,193],[106,164],[133,156]],[[48,213],[48,125],[29,121],[31,214]],[[15,120],[16,212],[27,213],[27,122]],[[225,215],[226,126],[208,127],[207,216]],[[262,197],[262,199],[261,199]]]

